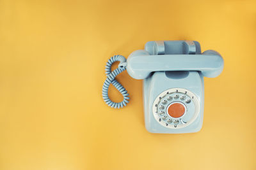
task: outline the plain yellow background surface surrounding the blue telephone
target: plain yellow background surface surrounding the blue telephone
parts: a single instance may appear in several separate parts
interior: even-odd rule
[[[255,31],[255,1],[1,0],[0,169],[256,169]],[[109,57],[163,39],[225,60],[198,133],[147,132],[126,72],[128,106],[102,101]]]

